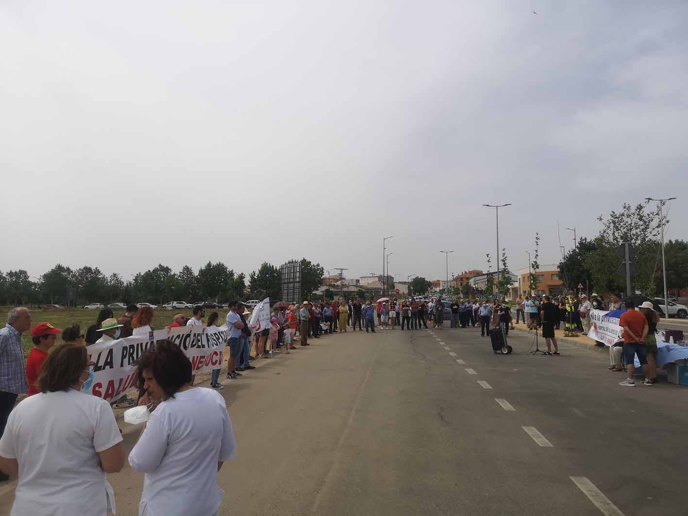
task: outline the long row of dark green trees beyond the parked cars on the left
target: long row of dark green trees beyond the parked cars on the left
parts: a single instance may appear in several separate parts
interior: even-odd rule
[[[308,297],[320,286],[323,277],[320,264],[301,259],[302,295]],[[179,272],[158,264],[155,268],[139,272],[129,280],[116,272],[107,276],[98,267],[84,266],[72,269],[57,264],[41,277],[30,277],[25,270],[0,272],[0,304],[59,304],[85,305],[87,303],[166,301],[199,301],[213,299],[264,299],[280,297],[279,268],[268,263],[261,265],[249,277],[238,274],[221,261],[208,261],[197,272],[185,265]]]

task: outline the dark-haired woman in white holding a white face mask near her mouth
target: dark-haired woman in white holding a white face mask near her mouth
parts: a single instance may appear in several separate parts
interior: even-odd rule
[[[129,454],[131,467],[145,473],[139,515],[216,515],[224,494],[217,472],[237,455],[224,398],[191,385],[191,361],[171,341],[144,352],[136,374],[160,400]]]

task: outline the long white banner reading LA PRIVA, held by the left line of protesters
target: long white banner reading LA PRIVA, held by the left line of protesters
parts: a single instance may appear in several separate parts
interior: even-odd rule
[[[156,341],[169,339],[179,345],[191,361],[191,374],[219,369],[224,362],[227,327],[184,326],[155,330],[146,336],[136,335],[93,344],[86,348],[89,361],[95,363],[91,394],[114,401],[136,387],[136,361]]]

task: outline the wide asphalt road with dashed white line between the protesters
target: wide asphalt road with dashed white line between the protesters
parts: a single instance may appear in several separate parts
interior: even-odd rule
[[[604,354],[532,341],[497,356],[474,328],[348,332],[226,380],[220,514],[686,515],[685,388],[619,387]],[[135,515],[142,475],[109,478]]]

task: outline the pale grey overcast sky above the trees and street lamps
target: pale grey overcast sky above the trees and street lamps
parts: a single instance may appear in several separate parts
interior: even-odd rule
[[[537,14],[534,14],[536,11]],[[513,270],[677,196],[688,3],[0,4],[0,270]]]

